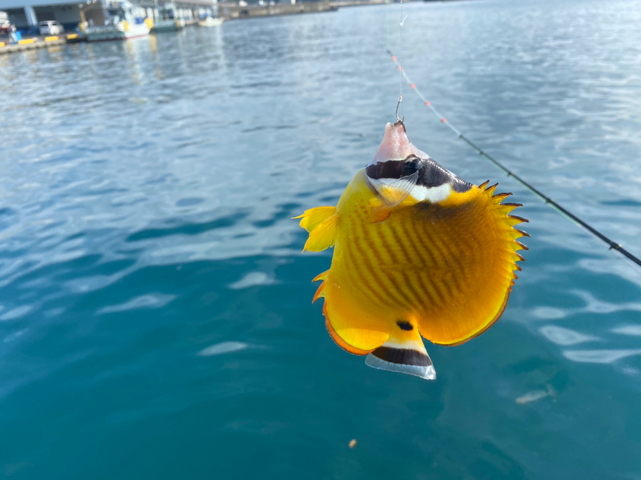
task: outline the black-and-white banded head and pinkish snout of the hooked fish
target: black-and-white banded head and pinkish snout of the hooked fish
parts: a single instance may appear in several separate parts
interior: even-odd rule
[[[444,169],[412,145],[401,122],[385,126],[383,141],[365,167],[365,174],[383,197],[410,195],[418,202],[438,203],[453,192],[467,192],[472,188],[471,183]],[[390,190],[398,195],[390,195]]]

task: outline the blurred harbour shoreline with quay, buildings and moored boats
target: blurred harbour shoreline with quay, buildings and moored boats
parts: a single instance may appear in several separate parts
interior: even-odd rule
[[[406,3],[417,0],[406,0]],[[453,0],[422,0],[453,1]],[[390,0],[1,0],[0,54],[67,43],[128,40],[188,26],[215,27],[225,20],[334,12]]]

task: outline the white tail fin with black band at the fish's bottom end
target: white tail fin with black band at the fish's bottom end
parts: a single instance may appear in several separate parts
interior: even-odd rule
[[[408,329],[412,328],[409,322],[399,322],[400,324],[406,324]],[[401,329],[404,328],[401,327]],[[390,335],[387,342],[365,357],[365,363],[381,370],[391,370],[392,372],[434,380],[437,377],[437,372],[418,332],[415,329],[413,332],[416,333],[416,337],[412,339],[407,338],[407,335],[403,335],[405,338],[392,338]]]

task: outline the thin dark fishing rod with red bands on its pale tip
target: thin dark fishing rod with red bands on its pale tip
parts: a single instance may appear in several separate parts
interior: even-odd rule
[[[403,15],[403,13],[401,13],[401,15]],[[401,27],[402,26],[403,26],[403,22],[401,22]],[[495,160],[495,158],[490,156],[490,154],[485,153],[485,151],[483,151],[478,145],[476,145],[474,142],[472,142],[472,140],[470,140],[469,138],[465,137],[465,135],[463,135],[460,131],[458,131],[456,128],[454,128],[454,126],[450,122],[448,122],[447,119],[445,119],[445,117],[443,115],[438,113],[437,109],[434,108],[434,106],[431,104],[431,102],[429,102],[428,99],[426,99],[423,96],[423,94],[420,92],[420,90],[416,87],[416,84],[413,83],[412,80],[410,80],[410,78],[405,73],[405,70],[403,69],[403,64],[397,62],[396,57],[394,56],[394,53],[392,53],[392,51],[390,51],[389,49],[387,50],[387,53],[390,54],[390,56],[392,57],[392,61],[395,63],[396,67],[401,72],[401,79],[404,79],[407,82],[407,84],[410,85],[410,88],[412,88],[412,90],[419,96],[419,98],[425,104],[425,106],[427,106],[429,108],[429,110],[431,110],[431,112],[434,113],[434,115],[436,115],[438,117],[438,119],[440,120],[440,122],[442,124],[444,124],[447,128],[449,128],[451,131],[453,131],[456,134],[456,136],[458,136],[458,138],[463,140],[463,142],[465,142],[466,144],[470,145],[470,147],[472,147],[472,149],[474,149],[479,155],[481,155],[483,158],[485,158],[485,160],[488,160],[490,163],[492,163],[492,165],[494,165],[497,169],[499,169],[502,172],[506,173],[508,177],[512,177],[513,179],[515,179],[517,182],[519,182],[521,185],[523,185],[525,188],[527,188],[529,190],[529,192],[531,192],[532,194],[536,195],[539,199],[541,199],[545,204],[551,206],[552,208],[554,208],[554,210],[558,211],[558,213],[563,215],[563,217],[565,217],[565,218],[569,219],[570,221],[574,222],[574,224],[585,228],[588,232],[592,233],[592,235],[596,236],[600,240],[603,240],[603,242],[605,242],[606,244],[610,245],[610,250],[618,251],[620,254],[626,256],[629,260],[633,261],[639,267],[641,267],[641,260],[637,256],[631,254],[626,249],[624,249],[620,244],[617,244],[617,243],[613,242],[612,240],[610,240],[610,238],[608,238],[607,236],[603,235],[603,233],[601,233],[597,229],[595,229],[592,226],[590,226],[590,224],[588,224],[587,222],[584,222],[583,220],[579,219],[579,217],[574,215],[574,213],[570,212],[569,210],[566,210],[560,204],[556,203],[553,199],[551,199],[550,197],[547,197],[546,195],[544,195],[542,192],[540,192],[540,190],[538,190],[537,188],[535,188],[532,185],[530,185],[527,181],[525,181],[524,179],[520,178],[517,174],[512,172],[510,169],[504,167],[504,165],[502,163],[500,163],[499,161]]]

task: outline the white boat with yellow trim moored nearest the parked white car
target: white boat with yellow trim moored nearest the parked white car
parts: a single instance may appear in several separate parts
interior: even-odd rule
[[[88,26],[83,34],[87,42],[144,37],[149,35],[153,25],[144,14],[144,8],[135,7],[128,1],[110,3],[103,10],[104,24]]]

